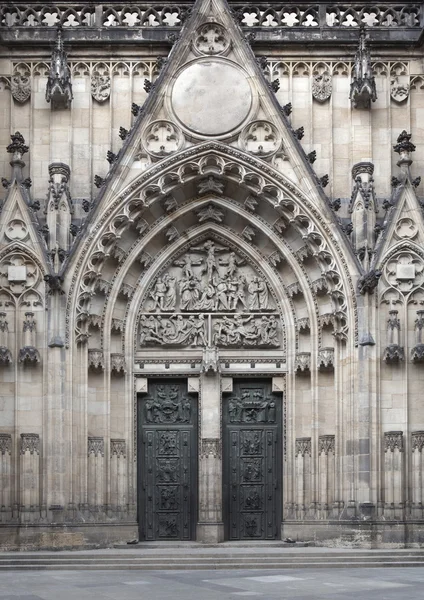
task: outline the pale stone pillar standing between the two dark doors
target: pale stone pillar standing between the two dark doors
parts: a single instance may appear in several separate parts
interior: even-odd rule
[[[199,522],[197,541],[222,542],[221,389],[217,372],[200,378]]]

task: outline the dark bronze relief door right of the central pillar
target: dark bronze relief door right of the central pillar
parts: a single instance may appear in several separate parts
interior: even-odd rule
[[[281,515],[281,401],[270,381],[235,381],[224,398],[224,502],[230,540],[276,539]]]

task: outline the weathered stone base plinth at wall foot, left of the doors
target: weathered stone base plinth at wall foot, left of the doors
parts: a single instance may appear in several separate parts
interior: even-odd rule
[[[108,548],[138,539],[138,523],[0,525],[0,550]]]

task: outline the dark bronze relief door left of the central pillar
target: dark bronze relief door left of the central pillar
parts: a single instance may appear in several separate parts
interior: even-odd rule
[[[197,404],[185,381],[153,381],[139,401],[140,539],[191,540],[197,520]]]

